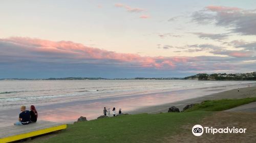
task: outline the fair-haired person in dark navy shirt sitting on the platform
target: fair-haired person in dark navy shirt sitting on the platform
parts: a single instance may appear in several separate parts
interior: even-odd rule
[[[30,123],[30,112],[26,110],[26,106],[20,107],[21,113],[19,113],[18,122],[14,125],[28,125]]]

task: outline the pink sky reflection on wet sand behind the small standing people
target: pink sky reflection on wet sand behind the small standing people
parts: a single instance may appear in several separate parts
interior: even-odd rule
[[[86,116],[88,120],[93,120],[103,114],[103,107],[106,107],[107,109],[112,109],[113,107],[116,109],[121,108],[123,113],[129,113],[129,111],[142,107],[188,99],[191,98],[191,93],[197,94],[198,91],[180,90],[173,92],[150,93],[125,98],[107,99],[95,102],[72,102],[73,105],[68,104],[66,107],[42,110],[40,120],[53,122],[74,122],[80,116]]]

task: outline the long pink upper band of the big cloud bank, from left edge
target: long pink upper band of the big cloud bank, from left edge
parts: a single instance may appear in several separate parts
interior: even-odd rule
[[[195,60],[195,58],[189,57],[143,57],[138,54],[116,53],[72,41],[55,42],[36,38],[11,37],[0,39],[0,42],[16,45],[18,51],[26,51],[26,55],[23,55],[24,57],[55,57],[80,61],[95,60],[95,63],[102,63],[104,60],[114,60],[116,64],[156,69],[174,69],[178,63],[185,63],[191,59]]]

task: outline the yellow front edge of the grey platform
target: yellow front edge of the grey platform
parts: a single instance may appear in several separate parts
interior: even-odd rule
[[[59,126],[55,126],[55,127],[37,130],[37,131],[32,131],[32,132],[28,132],[28,133],[24,133],[24,134],[8,136],[8,137],[0,138],[0,143],[16,141],[16,140],[29,138],[29,137],[33,137],[33,136],[37,136],[37,135],[41,135],[41,134],[46,134],[46,133],[50,133],[50,132],[54,132],[54,131],[58,131],[58,130],[63,130],[66,128],[67,128],[67,125],[65,124],[65,125],[59,125]]]

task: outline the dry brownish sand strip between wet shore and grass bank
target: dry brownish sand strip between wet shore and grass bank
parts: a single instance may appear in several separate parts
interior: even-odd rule
[[[218,90],[218,89],[217,89]],[[243,87],[238,89],[231,89],[226,91],[221,91],[209,95],[205,95],[202,97],[197,98],[191,98],[186,99],[182,101],[162,104],[162,105],[156,105],[156,106],[148,106],[148,107],[142,107],[130,112],[127,112],[129,114],[140,114],[140,113],[149,113],[149,114],[156,114],[160,112],[167,112],[169,107],[175,106],[180,109],[180,111],[183,110],[183,108],[188,104],[195,104],[195,103],[201,103],[205,100],[220,100],[220,99],[236,99],[236,98],[250,98],[250,97],[256,97],[256,85],[253,85],[251,87]]]

